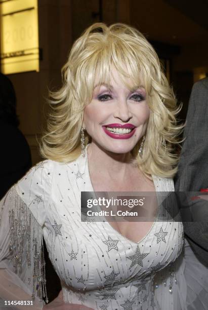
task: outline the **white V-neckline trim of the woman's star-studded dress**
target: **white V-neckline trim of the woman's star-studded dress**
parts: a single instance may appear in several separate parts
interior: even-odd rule
[[[86,148],[85,148],[85,154],[86,154],[86,163],[85,163],[85,176],[87,177],[87,187],[88,187],[88,191],[93,191],[95,192],[94,190],[94,187],[93,187],[93,184],[92,184],[92,180],[91,180],[91,176],[90,176],[90,170],[89,170],[89,161],[88,161],[88,147],[91,143],[87,144]],[[152,180],[153,180],[153,183],[154,183],[154,188],[155,188],[155,192],[157,191],[156,190],[156,184],[155,184],[155,177],[152,176]],[[109,226],[109,228],[115,233],[115,234],[118,234],[120,236],[120,238],[123,238],[125,239],[126,241],[128,242],[131,242],[131,243],[134,243],[136,245],[139,245],[141,242],[144,241],[144,239],[150,234],[150,232],[152,231],[154,225],[155,225],[155,222],[156,222],[156,218],[158,216],[158,212],[159,212],[159,208],[157,209],[157,214],[155,216],[155,219],[154,219],[154,222],[152,223],[152,226],[150,227],[150,229],[147,231],[147,234],[145,234],[144,237],[142,237],[141,240],[139,240],[138,242],[134,241],[134,240],[131,240],[129,238],[127,238],[126,236],[123,236],[117,229],[115,229],[107,220],[105,220],[105,223],[107,223],[107,225]]]

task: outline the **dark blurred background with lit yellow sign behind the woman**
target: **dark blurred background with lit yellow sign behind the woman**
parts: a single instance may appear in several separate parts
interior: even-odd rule
[[[193,83],[208,76],[208,0],[0,0],[1,72],[16,93],[32,165],[45,126],[48,89],[61,86],[72,43],[94,22],[127,23],[154,46],[185,120]]]

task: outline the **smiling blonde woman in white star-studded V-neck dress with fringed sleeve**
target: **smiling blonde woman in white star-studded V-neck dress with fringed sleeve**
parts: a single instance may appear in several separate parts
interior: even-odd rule
[[[81,191],[174,190],[176,100],[153,48],[130,26],[94,24],[74,43],[64,85],[52,97],[41,144],[47,160],[2,201],[4,276],[9,270],[38,307],[46,294],[44,237],[62,284],[59,298],[44,308],[186,309],[180,221],[80,217]],[[153,215],[154,204],[147,207]],[[197,275],[201,296],[206,275],[205,269]],[[205,298],[200,302],[205,309]]]

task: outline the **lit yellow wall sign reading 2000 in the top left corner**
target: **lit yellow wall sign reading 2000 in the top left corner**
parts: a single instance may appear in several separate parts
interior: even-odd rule
[[[1,71],[39,71],[37,0],[0,0]]]

